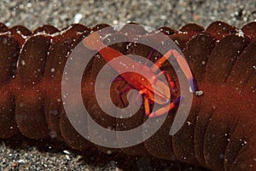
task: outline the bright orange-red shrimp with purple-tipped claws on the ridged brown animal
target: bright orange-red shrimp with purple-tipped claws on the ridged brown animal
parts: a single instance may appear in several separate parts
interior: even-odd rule
[[[169,90],[169,87],[165,83],[160,81],[158,77],[166,73],[167,80],[172,87],[172,90],[177,91],[177,88],[168,72],[160,71],[160,73],[158,74],[155,74],[155,72],[165,63],[166,60],[168,60],[168,58],[172,56],[176,58],[177,63],[182,68],[185,76],[189,80],[191,93],[195,93],[196,91],[194,78],[189,69],[189,65],[187,64],[183,56],[179,54],[175,49],[170,49],[166,52],[166,54],[160,57],[160,59],[157,60],[153,66],[148,67],[136,62],[135,60],[131,60],[131,58],[129,58],[128,56],[125,56],[119,51],[103,44],[101,41],[101,37],[96,32],[90,34],[89,37],[85,37],[83,43],[86,48],[89,48],[91,50],[98,50],[99,53],[102,54],[103,59],[107,62],[116,59],[119,56],[123,57],[121,60],[114,60],[114,62],[108,64],[110,64],[110,66],[112,66],[115,71],[118,71],[121,77],[123,77],[125,81],[131,85],[131,87],[136,88],[139,91],[139,94],[144,94],[145,114],[148,117],[160,116],[165,114],[167,111],[171,111],[182,99],[182,97],[179,96],[176,100],[172,101],[172,103],[165,105],[171,99],[171,92]],[[121,73],[122,71],[127,70],[127,67],[129,67],[128,69],[132,69],[133,71],[140,71],[143,74],[138,74],[131,71]],[[147,75],[150,80],[146,81],[146,78],[144,77],[145,75]],[[151,84],[154,84],[156,88],[153,89]],[[165,106],[157,111],[153,111],[150,113],[149,100]]]

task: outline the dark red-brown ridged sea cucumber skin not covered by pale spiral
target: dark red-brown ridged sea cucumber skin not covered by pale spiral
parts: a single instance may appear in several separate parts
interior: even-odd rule
[[[32,139],[50,136],[64,140],[79,150],[92,145],[67,119],[61,102],[61,77],[71,50],[91,30],[106,26],[89,29],[73,25],[62,31],[43,26],[30,32],[23,26],[0,25],[0,138],[20,132]],[[177,134],[169,135],[174,110],[150,139],[121,151],[188,162],[212,170],[256,170],[256,23],[243,26],[243,34],[218,21],[206,30],[195,24],[183,26],[180,31],[168,27],[159,30],[182,49],[197,87],[204,94],[194,97],[189,117]],[[143,28],[133,32],[124,27],[113,31],[109,38],[127,37],[126,33],[128,37],[141,35],[142,39],[157,41],[154,33],[145,35],[147,31]],[[150,53],[150,48],[141,44],[133,43],[128,49],[126,45],[114,44],[112,48],[144,57]],[[158,56],[160,54],[154,53],[152,59]],[[91,117],[105,128],[135,128],[146,119],[143,108],[131,118],[115,119],[100,109],[91,93],[96,75],[105,64],[105,60],[97,56],[86,67],[82,80],[84,105]],[[177,81],[171,66],[164,65],[161,69],[169,71]],[[125,81],[113,83],[111,95],[115,105],[122,106],[119,92],[127,86]],[[100,146],[99,149],[108,150]]]

